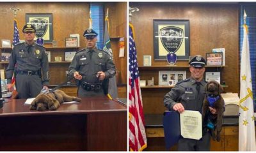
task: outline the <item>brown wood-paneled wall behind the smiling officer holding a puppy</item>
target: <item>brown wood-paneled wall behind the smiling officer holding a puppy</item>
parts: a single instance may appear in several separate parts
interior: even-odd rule
[[[228,85],[225,92],[239,92],[238,41],[239,4],[237,3],[129,3],[140,11],[133,13],[139,66],[143,55],[152,56],[153,66],[164,66],[166,61],[154,61],[153,20],[189,20],[190,55],[203,55],[212,48],[225,48],[226,65],[223,81]],[[178,61],[188,65],[188,61]]]

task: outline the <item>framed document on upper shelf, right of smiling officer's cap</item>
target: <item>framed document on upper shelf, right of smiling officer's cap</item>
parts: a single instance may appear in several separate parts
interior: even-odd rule
[[[222,52],[206,53],[207,66],[221,66],[223,59]]]

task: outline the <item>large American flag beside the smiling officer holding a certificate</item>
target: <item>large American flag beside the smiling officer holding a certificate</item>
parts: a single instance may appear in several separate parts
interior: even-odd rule
[[[129,24],[129,148],[131,151],[141,151],[147,147],[147,137],[144,127],[137,53],[133,38],[133,26]]]

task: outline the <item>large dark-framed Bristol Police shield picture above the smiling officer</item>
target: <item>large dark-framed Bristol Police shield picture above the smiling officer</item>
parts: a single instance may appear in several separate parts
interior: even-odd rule
[[[189,20],[153,20],[153,27],[155,61],[166,60],[169,52],[189,59]]]

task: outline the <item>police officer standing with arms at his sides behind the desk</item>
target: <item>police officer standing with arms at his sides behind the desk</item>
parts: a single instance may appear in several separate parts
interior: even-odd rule
[[[12,50],[6,69],[8,90],[12,91],[12,75],[16,71],[16,86],[19,98],[36,97],[41,89],[49,85],[49,63],[45,48],[35,43],[36,29],[31,24],[24,25],[24,43],[19,43]],[[42,71],[42,74],[41,74]]]

